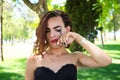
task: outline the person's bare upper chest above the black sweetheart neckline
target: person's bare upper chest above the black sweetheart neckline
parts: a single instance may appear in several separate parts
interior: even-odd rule
[[[41,61],[37,61],[37,67],[47,67],[53,72],[58,72],[64,65],[74,64],[75,61],[70,56],[63,57],[45,57]]]

